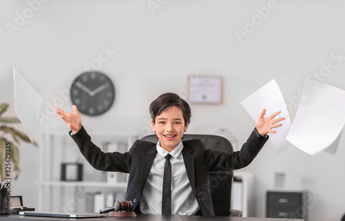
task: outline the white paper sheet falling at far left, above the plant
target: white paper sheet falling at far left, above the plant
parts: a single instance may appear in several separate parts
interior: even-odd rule
[[[14,78],[14,111],[31,142],[34,142],[34,132],[39,124],[37,113],[41,111],[43,98],[23,79],[19,71],[13,67]]]

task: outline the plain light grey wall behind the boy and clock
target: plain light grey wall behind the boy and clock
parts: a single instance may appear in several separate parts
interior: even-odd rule
[[[88,131],[146,131],[148,104],[155,97],[168,91],[184,97],[188,75],[219,75],[224,77],[224,103],[191,104],[188,132],[227,128],[239,143],[254,127],[240,104],[243,99],[276,79],[286,101],[294,106],[304,80],[316,79],[313,73],[327,66],[331,53],[345,56],[343,1],[167,0],[159,1],[161,7],[154,14],[148,1],[37,2],[0,2],[0,103],[10,103],[8,115],[15,115],[15,66],[45,101],[50,118],[43,128],[66,133],[68,128],[57,115],[50,115],[48,104],[61,98],[57,90],[68,89],[83,66],[95,62],[101,47],[117,50],[99,67],[115,82],[117,95],[108,113],[83,116]],[[36,10],[32,15],[29,3]],[[245,19],[259,19],[255,8],[268,5],[273,10],[241,44],[235,30],[244,30]],[[16,25],[18,13],[23,12],[28,13],[26,23],[21,20],[18,30],[8,31],[6,26]],[[330,75],[316,80],[344,90],[344,59],[339,62]],[[59,106],[71,111],[71,105],[70,99],[63,99]],[[255,216],[265,215],[265,194],[274,188],[275,173],[285,173],[286,189],[308,189],[313,195],[309,220],[340,220],[345,213],[344,144],[341,139],[335,155],[311,156],[292,145],[277,154],[267,143],[244,169],[255,175]],[[23,195],[30,206],[38,203],[33,182],[39,178],[39,148],[21,146],[22,171],[13,184],[14,193]]]

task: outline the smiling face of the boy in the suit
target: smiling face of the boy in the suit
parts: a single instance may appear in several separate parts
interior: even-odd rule
[[[177,106],[157,115],[155,122],[151,119],[152,130],[157,134],[161,147],[171,152],[180,142],[187,131],[188,123],[184,122],[184,115]]]

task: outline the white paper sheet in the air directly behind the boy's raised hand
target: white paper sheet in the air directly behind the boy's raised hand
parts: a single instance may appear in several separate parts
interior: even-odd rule
[[[284,97],[275,79],[244,99],[241,104],[244,106],[246,111],[248,111],[249,115],[255,120],[255,122],[263,108],[266,108],[265,117],[268,117],[276,111],[282,111],[282,113],[277,115],[277,117],[285,117],[285,120],[282,121],[283,126],[274,129],[277,131],[277,133],[270,133],[268,135],[270,136],[270,143],[274,146],[278,153],[285,151],[289,145],[288,142],[286,142],[286,135],[290,130],[291,121],[290,116],[286,111],[287,108],[284,102]]]

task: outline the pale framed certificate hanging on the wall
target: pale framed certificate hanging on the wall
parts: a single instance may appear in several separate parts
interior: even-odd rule
[[[188,100],[193,104],[221,104],[223,79],[217,76],[189,76]]]

